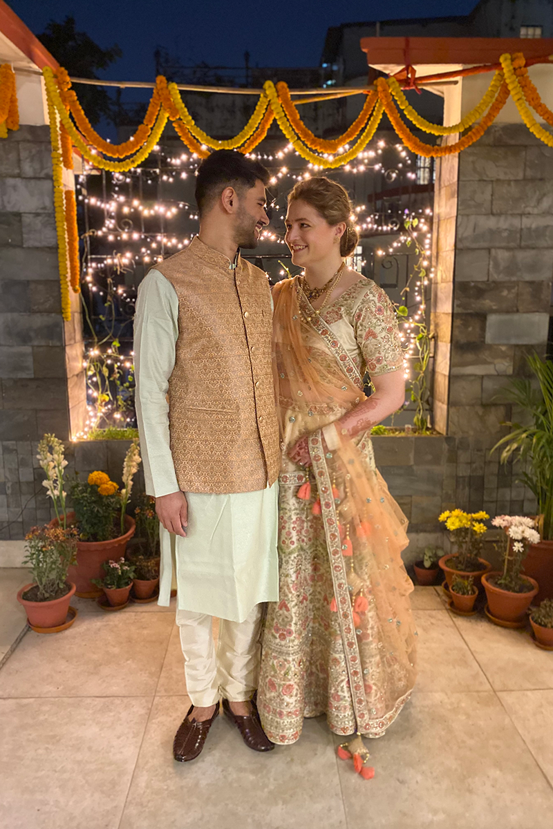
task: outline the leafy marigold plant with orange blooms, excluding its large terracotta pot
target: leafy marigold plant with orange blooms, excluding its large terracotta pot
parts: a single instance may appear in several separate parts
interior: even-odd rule
[[[75,524],[82,541],[109,541],[119,536],[121,510],[119,487],[103,472],[90,473],[87,481],[76,478],[70,486]]]

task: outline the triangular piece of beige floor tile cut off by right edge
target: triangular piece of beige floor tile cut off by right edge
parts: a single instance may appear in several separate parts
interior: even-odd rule
[[[553,786],[553,691],[500,691],[497,696]]]

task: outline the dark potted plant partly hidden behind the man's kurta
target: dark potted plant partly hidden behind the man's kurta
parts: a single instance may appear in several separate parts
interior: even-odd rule
[[[149,599],[159,584],[159,520],[155,503],[154,497],[143,493],[134,510],[136,533],[126,555],[135,567],[135,599]]]

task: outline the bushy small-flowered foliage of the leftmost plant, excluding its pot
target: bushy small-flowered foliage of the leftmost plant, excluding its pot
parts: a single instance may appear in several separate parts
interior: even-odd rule
[[[47,602],[65,596],[69,591],[67,570],[76,563],[75,528],[35,526],[25,540],[27,556],[23,565],[30,569],[35,584],[23,598]]]

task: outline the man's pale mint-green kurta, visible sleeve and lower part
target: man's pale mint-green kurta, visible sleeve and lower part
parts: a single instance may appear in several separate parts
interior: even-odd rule
[[[169,443],[169,377],[175,366],[178,298],[152,269],[138,288],[134,318],[136,411],[148,495],[178,492]],[[158,604],[169,604],[172,556],[180,610],[242,622],[255,604],[279,598],[278,483],[258,492],[186,492],[187,537],[160,525]]]

